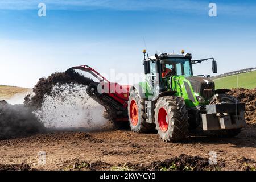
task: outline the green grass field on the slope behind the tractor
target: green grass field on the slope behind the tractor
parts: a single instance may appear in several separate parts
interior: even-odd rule
[[[256,88],[256,71],[253,71],[253,72],[241,73],[238,75],[217,78],[214,80],[216,89],[237,88],[237,76],[238,76],[238,88],[247,88],[247,89]]]

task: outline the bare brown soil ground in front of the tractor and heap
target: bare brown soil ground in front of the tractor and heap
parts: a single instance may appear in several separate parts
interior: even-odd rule
[[[44,165],[38,164],[39,151],[46,152]],[[217,154],[216,165],[208,163],[210,151]],[[0,169],[255,170],[256,130],[247,127],[233,138],[189,137],[182,143],[128,130],[55,131],[0,140],[0,154]]]

